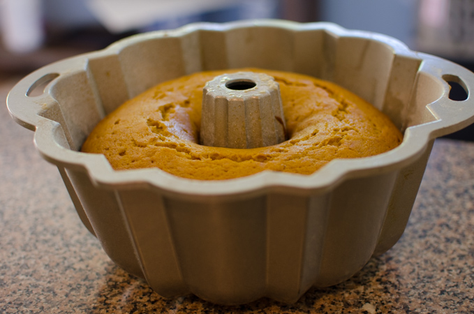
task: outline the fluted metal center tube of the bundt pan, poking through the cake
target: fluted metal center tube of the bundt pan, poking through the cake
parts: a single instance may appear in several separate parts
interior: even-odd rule
[[[202,93],[201,143],[237,149],[279,144],[286,126],[279,84],[264,73],[214,77]]]

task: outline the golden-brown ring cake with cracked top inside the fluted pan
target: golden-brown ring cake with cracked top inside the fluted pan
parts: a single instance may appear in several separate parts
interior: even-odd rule
[[[255,149],[200,145],[202,88],[216,75],[242,70],[279,82],[288,140]],[[402,137],[385,114],[336,84],[296,73],[235,69],[180,77],[128,100],[96,126],[82,151],[104,154],[115,170],[158,167],[179,177],[220,180],[263,170],[311,174],[335,158],[389,151]]]

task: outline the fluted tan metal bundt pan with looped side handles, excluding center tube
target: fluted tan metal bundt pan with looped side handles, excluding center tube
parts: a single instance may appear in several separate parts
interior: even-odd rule
[[[149,87],[243,67],[340,84],[388,114],[403,142],[378,156],[333,160],[311,175],[266,171],[225,181],[114,171],[104,156],[79,152],[105,114]],[[467,99],[451,100],[448,82]],[[36,70],[7,103],[13,119],[35,131],[38,151],[57,165],[82,222],[114,262],[163,297],[244,304],[297,301],[393,246],[435,137],[474,121],[473,87],[465,68],[378,33],[253,20],[120,40]]]

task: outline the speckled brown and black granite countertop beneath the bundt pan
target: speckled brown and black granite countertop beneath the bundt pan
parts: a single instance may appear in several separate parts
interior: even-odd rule
[[[0,85],[0,98],[12,84]],[[474,143],[437,140],[399,242],[345,283],[312,288],[291,305],[163,299],[126,274],[5,105],[0,182],[0,313],[474,313]]]

